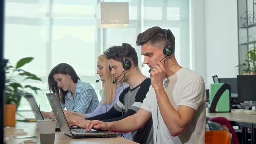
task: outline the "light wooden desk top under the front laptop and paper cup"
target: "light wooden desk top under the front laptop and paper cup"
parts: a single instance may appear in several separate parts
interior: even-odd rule
[[[15,128],[24,129],[24,131],[27,132],[26,136],[36,135],[37,138],[14,138],[13,131]],[[36,144],[40,144],[39,128],[36,122],[17,122],[16,127],[4,128],[4,137],[7,144],[19,144],[24,140],[32,140],[36,142]],[[55,144],[138,144],[122,137],[74,139],[72,137],[67,136],[66,134],[63,134],[60,131],[56,131],[54,143]]]

